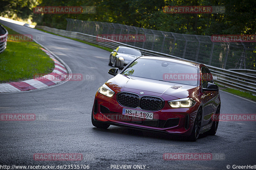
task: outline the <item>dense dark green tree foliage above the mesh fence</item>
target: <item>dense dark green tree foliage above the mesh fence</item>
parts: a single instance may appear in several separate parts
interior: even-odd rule
[[[40,3],[40,4],[39,4]],[[39,5],[38,5],[39,4]],[[120,23],[198,35],[255,34],[255,0],[3,0],[1,15],[25,18],[38,6],[95,6],[94,14],[33,14],[39,25],[65,29],[65,18]],[[167,6],[225,6],[222,14],[170,14]]]

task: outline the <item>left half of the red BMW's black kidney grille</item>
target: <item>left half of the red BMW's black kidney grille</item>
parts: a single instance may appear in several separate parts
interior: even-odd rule
[[[120,93],[117,96],[117,101],[123,106],[136,108],[138,106],[139,96],[131,93]]]

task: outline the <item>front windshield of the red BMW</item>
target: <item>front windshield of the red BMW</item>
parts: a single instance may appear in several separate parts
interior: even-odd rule
[[[137,59],[122,75],[197,86],[197,67],[155,59]]]

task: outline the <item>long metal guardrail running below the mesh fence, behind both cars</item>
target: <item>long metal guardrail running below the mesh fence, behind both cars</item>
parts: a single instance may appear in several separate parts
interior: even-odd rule
[[[88,41],[88,42],[98,44],[98,45],[101,45],[104,47],[112,48],[112,49],[114,49],[118,46],[126,46],[126,47],[132,47],[135,49],[139,49],[141,51],[141,53],[144,55],[168,56],[168,57],[180,59],[180,57],[177,57],[174,55],[169,55],[169,54],[164,54],[161,52],[151,51],[148,49],[138,48],[138,47],[134,47],[132,45],[128,45],[128,44],[124,44],[124,43],[116,42],[116,41],[112,41],[112,40],[102,42],[102,41],[99,41],[98,37],[94,36],[94,35],[60,30],[60,29],[56,29],[56,28],[50,28],[47,26],[36,26],[36,28],[43,29],[45,31],[55,33],[58,35],[62,35],[62,36],[70,37],[70,38],[76,38],[76,39],[83,40],[83,41]],[[105,40],[107,40],[107,39],[105,39]],[[210,65],[206,65],[206,66],[209,68],[212,75],[217,77],[217,79],[215,81],[219,85],[223,85],[225,87],[237,89],[237,90],[244,91],[244,92],[250,92],[253,95],[256,95],[256,76],[239,73],[239,72],[232,71],[232,70],[221,69],[221,68],[210,66]]]

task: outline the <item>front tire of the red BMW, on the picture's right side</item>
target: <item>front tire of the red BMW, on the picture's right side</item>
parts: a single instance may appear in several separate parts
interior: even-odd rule
[[[193,126],[193,130],[192,130],[191,135],[189,136],[189,141],[195,142],[196,139],[199,137],[201,124],[202,124],[202,108],[200,108],[197,111],[196,119],[195,119],[194,126]]]

